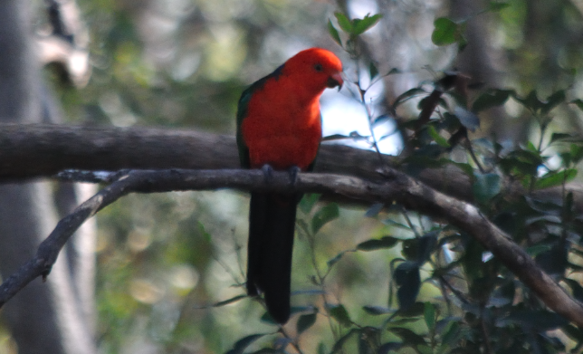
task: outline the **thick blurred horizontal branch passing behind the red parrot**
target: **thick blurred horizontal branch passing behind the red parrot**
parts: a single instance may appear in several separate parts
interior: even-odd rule
[[[399,158],[384,156],[388,167],[403,167]],[[367,150],[322,144],[314,172],[380,180],[387,166]],[[0,124],[0,182],[52,177],[64,169],[217,169],[240,167],[233,136],[195,130],[115,128],[52,124]],[[449,166],[425,168],[416,177],[427,186],[467,202],[473,201],[472,181]],[[583,213],[583,187],[569,184],[578,212]],[[523,196],[521,184],[504,181],[507,197]],[[545,200],[562,200],[560,187],[535,191]]]

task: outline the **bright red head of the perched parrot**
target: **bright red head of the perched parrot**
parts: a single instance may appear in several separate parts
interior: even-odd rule
[[[332,52],[310,48],[295,54],[283,66],[284,74],[291,74],[313,91],[342,87],[342,62]]]

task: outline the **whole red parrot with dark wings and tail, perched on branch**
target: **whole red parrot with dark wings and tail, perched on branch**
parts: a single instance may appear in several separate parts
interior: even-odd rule
[[[245,168],[307,171],[320,148],[320,95],[342,86],[342,63],[320,48],[297,53],[241,95],[237,145]],[[263,293],[273,320],[290,318],[296,206],[301,194],[251,193],[247,292]]]

